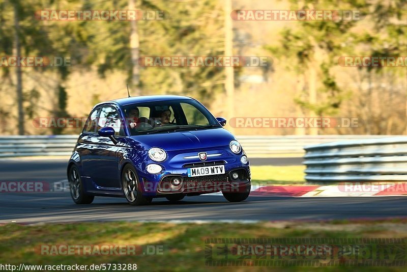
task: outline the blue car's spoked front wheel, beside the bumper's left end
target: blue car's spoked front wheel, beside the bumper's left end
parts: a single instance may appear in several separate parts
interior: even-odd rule
[[[136,170],[131,165],[126,165],[122,172],[123,193],[130,205],[147,205],[152,199],[142,195],[140,181]]]

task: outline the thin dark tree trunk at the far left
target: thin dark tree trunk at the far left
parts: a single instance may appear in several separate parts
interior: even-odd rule
[[[14,2],[14,55],[17,58],[21,57],[21,47],[19,38],[19,19],[18,19],[18,9],[17,3]],[[22,75],[21,67],[16,67],[16,78],[17,78],[17,106],[18,106],[18,134],[24,135],[24,110],[22,107],[23,97],[22,97]]]

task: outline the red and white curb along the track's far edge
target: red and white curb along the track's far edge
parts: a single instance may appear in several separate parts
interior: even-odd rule
[[[221,192],[210,195],[222,195]],[[252,185],[251,197],[386,197],[407,196],[407,183],[349,182],[338,185]]]

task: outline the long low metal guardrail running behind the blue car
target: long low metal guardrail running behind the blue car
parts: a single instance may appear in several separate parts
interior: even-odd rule
[[[250,157],[302,156],[304,146],[338,140],[380,138],[377,135],[238,136]],[[69,156],[78,135],[1,136],[0,157]]]

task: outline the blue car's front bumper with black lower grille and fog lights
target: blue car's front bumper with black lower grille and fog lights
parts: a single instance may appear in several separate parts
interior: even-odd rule
[[[208,159],[201,161],[199,152],[206,152]],[[162,166],[163,172],[149,174],[143,171],[152,161],[143,161],[139,177],[143,183],[143,195],[150,197],[166,196],[168,194],[200,195],[214,192],[239,192],[241,188],[247,188],[250,184],[250,164],[242,164],[241,157],[246,155],[244,151],[234,154],[227,148],[195,149],[167,151],[168,159],[156,163]],[[188,168],[202,166],[224,165],[225,174],[188,177]],[[233,179],[231,174],[238,171],[239,177]],[[171,184],[171,179],[178,177],[181,184]]]

